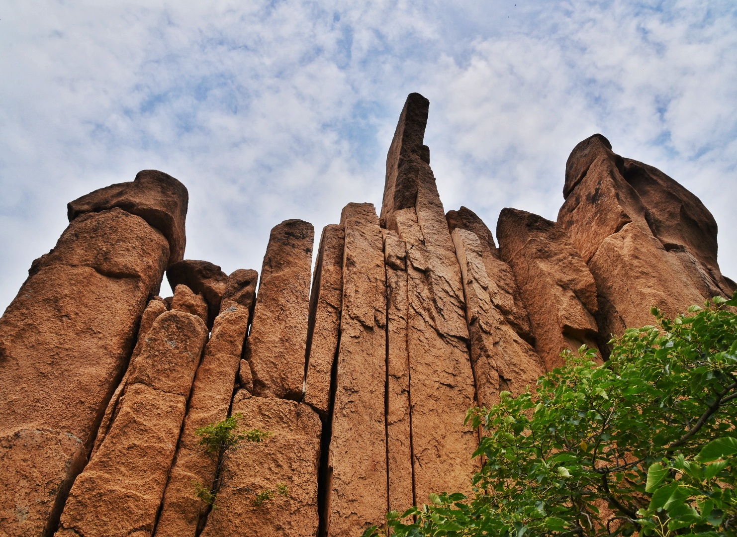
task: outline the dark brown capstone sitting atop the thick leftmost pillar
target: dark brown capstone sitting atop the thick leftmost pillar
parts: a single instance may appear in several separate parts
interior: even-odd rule
[[[71,222],[80,214],[99,213],[115,207],[136,214],[167,238],[168,265],[171,266],[184,259],[184,220],[188,203],[189,193],[182,183],[156,169],[144,169],[133,181],[105,186],[70,202],[67,216]]]

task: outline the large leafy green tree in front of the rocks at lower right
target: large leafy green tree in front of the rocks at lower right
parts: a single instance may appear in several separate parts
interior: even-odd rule
[[[735,306],[653,309],[604,365],[581,347],[534,392],[469,410],[474,494],[432,494],[364,536],[737,535]]]

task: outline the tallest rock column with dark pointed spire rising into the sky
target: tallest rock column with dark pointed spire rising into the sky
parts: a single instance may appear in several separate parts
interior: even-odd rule
[[[433,172],[422,144],[429,102],[410,94],[386,161],[381,216],[408,252],[408,348],[416,502],[441,491],[468,491],[478,468],[476,404],[463,287]]]

